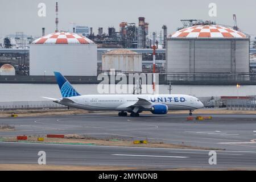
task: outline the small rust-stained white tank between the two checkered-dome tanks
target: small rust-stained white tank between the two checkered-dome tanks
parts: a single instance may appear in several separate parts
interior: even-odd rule
[[[102,55],[102,70],[142,72],[142,54],[129,49],[114,49]]]

